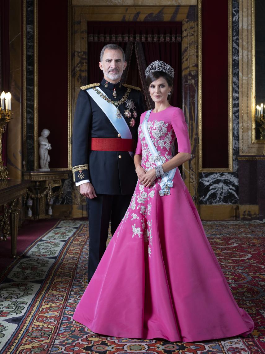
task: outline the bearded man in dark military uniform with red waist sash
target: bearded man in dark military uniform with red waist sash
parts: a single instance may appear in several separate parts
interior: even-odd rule
[[[108,226],[114,234],[137,182],[133,151],[145,110],[138,87],[120,82],[126,67],[122,48],[106,45],[100,54],[101,83],[81,87],[72,136],[72,171],[87,197],[88,281],[106,249]]]

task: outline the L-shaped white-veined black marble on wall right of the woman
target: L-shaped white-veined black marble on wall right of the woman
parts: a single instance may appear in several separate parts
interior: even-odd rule
[[[239,154],[239,3],[232,1],[233,169],[226,173],[199,173],[199,204],[238,204]]]

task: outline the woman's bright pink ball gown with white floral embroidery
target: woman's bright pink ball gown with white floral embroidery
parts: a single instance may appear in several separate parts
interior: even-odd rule
[[[141,115],[141,122],[145,113]],[[162,160],[190,153],[181,109],[153,113],[148,131]],[[136,154],[155,166],[142,126]],[[96,333],[125,338],[194,342],[246,336],[254,328],[239,308],[177,169],[170,195],[137,183],[130,206],[89,282],[73,319]]]

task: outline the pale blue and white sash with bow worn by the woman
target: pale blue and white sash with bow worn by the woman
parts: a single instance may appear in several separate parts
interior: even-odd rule
[[[162,165],[163,161],[160,158],[160,155],[155,148],[155,145],[149,135],[148,129],[147,129],[147,121],[149,119],[151,113],[151,109],[146,112],[145,119],[142,122],[142,129],[143,129],[143,134],[145,135],[145,139],[147,142],[147,145],[149,147],[149,150],[152,153],[152,156],[154,158],[155,164],[157,166]],[[159,190],[159,195],[169,195],[170,194],[170,188],[173,187],[173,177],[175,176],[177,167],[173,170],[170,170],[169,172],[165,172],[165,174],[161,177],[162,181],[160,183],[161,190]]]

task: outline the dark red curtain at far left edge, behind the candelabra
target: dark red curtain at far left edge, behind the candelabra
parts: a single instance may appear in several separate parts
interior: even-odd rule
[[[0,61],[0,91],[8,92],[10,72],[10,51],[9,51],[9,0],[0,1],[0,37],[1,37],[1,61]],[[0,92],[0,93],[1,93]],[[7,129],[7,128],[6,128]],[[2,135],[2,161],[7,163],[7,130]]]

